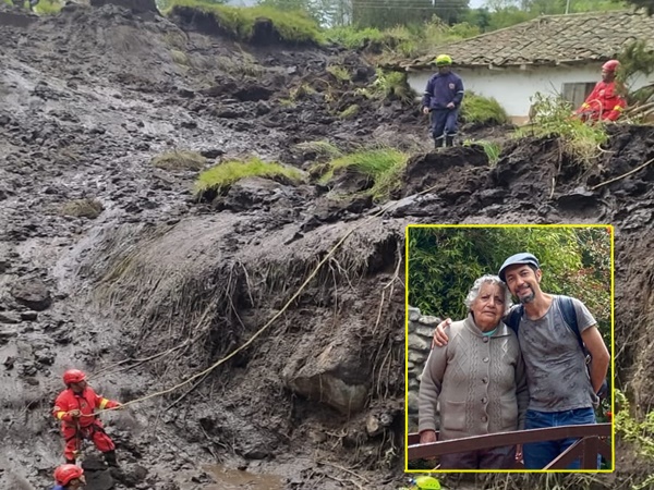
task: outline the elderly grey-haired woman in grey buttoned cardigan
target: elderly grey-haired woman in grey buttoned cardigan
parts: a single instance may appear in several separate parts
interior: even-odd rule
[[[429,354],[420,383],[420,442],[441,441],[524,427],[529,402],[518,338],[501,322],[511,293],[497,275],[477,279],[465,298],[469,315],[446,328],[450,339]],[[440,469],[510,469],[516,446],[444,454]]]

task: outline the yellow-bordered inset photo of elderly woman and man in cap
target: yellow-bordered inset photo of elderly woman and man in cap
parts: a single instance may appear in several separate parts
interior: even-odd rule
[[[405,243],[405,471],[613,471],[613,226]]]

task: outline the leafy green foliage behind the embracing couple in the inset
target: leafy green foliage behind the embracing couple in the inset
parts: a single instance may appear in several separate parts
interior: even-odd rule
[[[424,315],[462,319],[475,279],[530,252],[541,261],[543,291],[581,299],[610,335],[610,235],[607,228],[411,228],[409,304]]]

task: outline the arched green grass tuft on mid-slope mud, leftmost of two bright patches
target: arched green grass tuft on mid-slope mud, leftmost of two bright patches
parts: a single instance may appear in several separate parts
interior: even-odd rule
[[[253,157],[246,161],[233,160],[220,163],[202,172],[195,182],[195,195],[197,198],[223,195],[234,183],[251,176],[281,179],[294,184],[304,181],[304,174],[298,169],[277,162],[265,162]]]

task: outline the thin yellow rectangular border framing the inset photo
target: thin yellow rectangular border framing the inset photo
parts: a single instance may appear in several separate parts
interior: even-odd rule
[[[509,474],[610,474],[616,470],[615,387],[610,391],[611,462],[610,469],[409,469],[409,230],[412,228],[603,228],[610,231],[610,376],[615,379],[615,229],[613,224],[408,224],[404,229],[404,473],[417,475],[459,473],[509,473]]]

